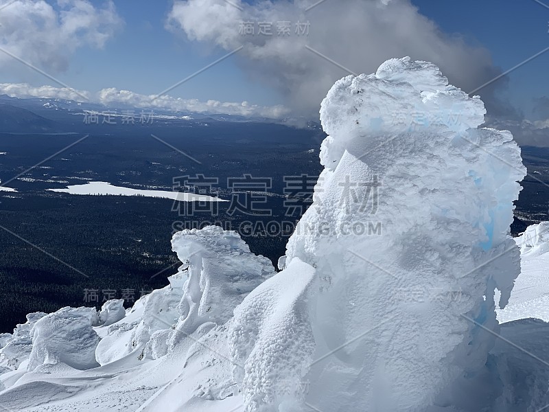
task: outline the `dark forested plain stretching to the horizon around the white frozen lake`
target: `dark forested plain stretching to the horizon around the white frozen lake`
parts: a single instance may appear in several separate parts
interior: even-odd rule
[[[131,306],[141,295],[165,286],[167,276],[176,272],[172,233],[207,222],[240,231],[254,253],[265,255],[276,266],[291,223],[306,208],[288,214],[285,179],[302,174],[316,179],[322,169],[318,146],[324,135],[318,129],[268,124],[212,123],[183,131],[161,130],[167,144],[143,130],[121,130],[117,137],[91,135],[35,168],[46,155],[78,136],[0,135],[0,152],[6,152],[0,156],[0,179],[13,179],[9,187],[18,190],[0,192],[0,332],[11,332],[27,313],[35,311],[99,308],[111,298],[126,299],[126,306]],[[185,155],[173,147],[182,148]],[[533,222],[548,220],[549,190],[541,182],[549,176],[546,151],[523,150],[528,170],[536,178],[528,176],[522,183],[514,234]],[[214,189],[225,199],[234,190],[227,187],[231,179],[245,174],[268,177],[264,191],[269,192],[266,209],[270,213],[229,210],[231,205],[225,203],[215,216],[204,210],[188,216],[167,199],[46,191],[86,181],[172,190],[181,176],[198,174],[215,176]],[[253,196],[253,188],[248,191],[252,194],[247,196]],[[188,205],[200,209],[198,204]],[[273,221],[289,225],[269,233],[266,225]],[[250,224],[255,225],[252,230]]]

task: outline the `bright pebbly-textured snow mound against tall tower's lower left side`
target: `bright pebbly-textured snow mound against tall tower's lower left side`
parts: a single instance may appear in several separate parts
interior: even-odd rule
[[[314,268],[295,259],[235,309],[229,337],[246,411],[302,404],[314,353],[308,300],[315,286]]]

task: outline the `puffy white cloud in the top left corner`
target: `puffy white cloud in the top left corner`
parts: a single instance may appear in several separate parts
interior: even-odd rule
[[[0,0],[0,47],[32,65],[67,69],[70,56],[84,46],[101,48],[123,21],[113,1],[102,7],[87,0]],[[0,66],[21,62],[0,53]]]

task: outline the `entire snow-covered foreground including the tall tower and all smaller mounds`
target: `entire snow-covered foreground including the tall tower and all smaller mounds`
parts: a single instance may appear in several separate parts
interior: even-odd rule
[[[237,233],[176,233],[180,268],[133,308],[0,334],[0,410],[542,410],[549,224],[509,236],[526,169],[484,113],[429,62],[339,80],[279,273]]]

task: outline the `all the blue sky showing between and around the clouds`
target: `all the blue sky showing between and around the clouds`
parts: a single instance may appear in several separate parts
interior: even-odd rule
[[[49,3],[54,4],[54,1],[49,0]],[[101,3],[93,2],[94,5]],[[318,12],[320,8],[336,7],[337,3],[338,0],[327,0],[323,5],[318,5]],[[549,7],[544,7],[536,0],[412,0],[412,3],[445,34],[465,36],[470,45],[486,47],[493,64],[503,71],[549,47]],[[124,24],[118,25],[118,30],[102,49],[87,45],[77,47],[69,56],[67,70],[54,72],[56,78],[80,90],[98,91],[115,87],[154,94],[227,53],[228,49],[219,47],[215,41],[189,41],[184,30],[166,30],[165,22],[173,5],[172,0],[115,1],[117,13]],[[210,24],[212,31],[218,30],[215,19],[202,23]],[[322,27],[322,30],[343,28]],[[376,42],[377,39],[369,38],[367,41]],[[318,44],[319,47],[323,45]],[[347,62],[345,58],[339,61]],[[375,62],[373,67],[381,62]],[[288,102],[288,91],[276,84],[273,86],[272,83],[258,80],[258,76],[255,76],[257,73],[253,73],[253,68],[250,69],[253,64],[253,60],[243,61],[240,56],[232,56],[185,82],[171,91],[170,95],[222,102],[247,100],[264,106]],[[325,62],[318,61],[316,64],[323,65]],[[549,52],[513,71],[509,75],[509,101],[528,113],[533,98],[549,95],[546,88],[548,67]],[[283,69],[281,67],[280,70]],[[332,69],[335,69],[332,75],[335,78],[347,74],[340,69]],[[369,66],[360,67],[356,64],[351,70],[372,71]],[[4,71],[1,82],[56,85],[25,67]],[[318,95],[314,98],[318,100]]]

